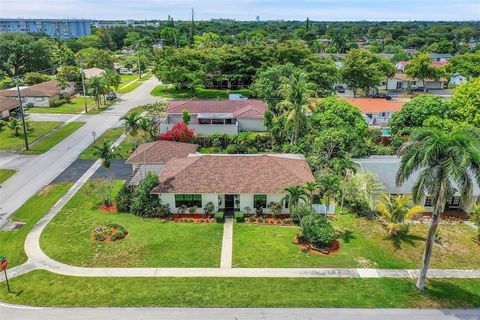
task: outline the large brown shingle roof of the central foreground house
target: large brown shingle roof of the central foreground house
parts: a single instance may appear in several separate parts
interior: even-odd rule
[[[281,193],[313,181],[305,160],[274,155],[204,155],[171,160],[153,193]]]

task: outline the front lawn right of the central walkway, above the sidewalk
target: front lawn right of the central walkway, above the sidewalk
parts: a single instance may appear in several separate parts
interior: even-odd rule
[[[235,267],[363,267],[418,268],[428,225],[415,224],[400,241],[393,241],[378,221],[337,215],[333,221],[340,251],[326,256],[302,252],[293,244],[298,227],[235,224]],[[480,268],[480,245],[467,225],[442,224],[435,244],[432,268]],[[468,257],[468,258],[466,258]]]

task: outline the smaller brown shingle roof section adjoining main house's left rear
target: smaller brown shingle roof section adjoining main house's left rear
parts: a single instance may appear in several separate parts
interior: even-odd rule
[[[196,144],[166,140],[144,143],[130,155],[127,163],[166,163],[171,159],[185,158],[197,152],[197,148]]]

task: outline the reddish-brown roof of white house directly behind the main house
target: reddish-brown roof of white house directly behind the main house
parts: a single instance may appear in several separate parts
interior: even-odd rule
[[[262,118],[267,103],[262,100],[188,100],[172,101],[167,113],[233,113],[236,118]]]

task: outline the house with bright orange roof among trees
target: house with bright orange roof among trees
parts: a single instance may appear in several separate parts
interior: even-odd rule
[[[347,98],[344,100],[363,113],[369,126],[388,124],[393,113],[400,111],[405,104],[404,102],[386,99]]]

